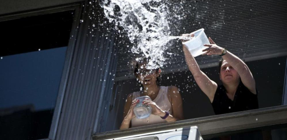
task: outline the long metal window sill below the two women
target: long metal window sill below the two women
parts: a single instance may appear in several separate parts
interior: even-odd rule
[[[204,138],[204,136],[210,137],[211,135],[218,134],[232,134],[236,133],[235,131],[281,124],[287,124],[287,105],[97,133],[93,136],[93,140],[114,139],[189,126],[197,126],[200,134]]]

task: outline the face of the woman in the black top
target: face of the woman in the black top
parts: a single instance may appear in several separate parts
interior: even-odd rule
[[[240,76],[230,64],[223,60],[220,67],[220,79],[223,83],[234,83],[240,80]]]

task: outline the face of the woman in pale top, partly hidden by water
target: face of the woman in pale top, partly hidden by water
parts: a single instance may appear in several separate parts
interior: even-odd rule
[[[150,85],[157,84],[157,77],[159,72],[157,70],[148,70],[145,64],[139,65],[137,78],[143,84],[143,86],[148,87]]]

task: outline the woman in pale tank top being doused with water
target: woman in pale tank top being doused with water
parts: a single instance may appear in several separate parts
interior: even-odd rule
[[[160,69],[147,69],[146,59],[134,61],[134,75],[142,85],[142,90],[130,93],[127,96],[123,112],[123,121],[120,129],[140,127],[165,122],[183,120],[183,104],[179,89],[176,86],[159,86],[157,81],[160,76]],[[138,119],[133,109],[140,96],[149,96],[142,103],[152,108],[148,118]]]

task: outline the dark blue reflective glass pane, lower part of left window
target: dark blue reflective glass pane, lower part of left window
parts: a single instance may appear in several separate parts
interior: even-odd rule
[[[66,50],[61,47],[0,60],[1,140],[47,137]]]

